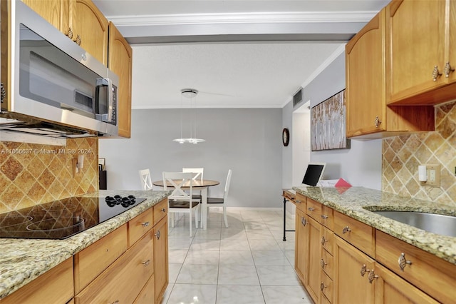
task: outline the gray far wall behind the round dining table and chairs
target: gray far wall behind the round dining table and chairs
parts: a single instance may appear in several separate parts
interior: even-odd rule
[[[133,110],[131,138],[99,141],[108,189],[139,190],[143,168],[155,181],[162,171],[204,167],[204,178],[221,182],[209,188],[209,195],[222,196],[231,168],[229,206],[280,207],[281,115],[281,108],[198,109],[197,137],[206,142],[193,145],[172,141],[180,137],[179,109]]]

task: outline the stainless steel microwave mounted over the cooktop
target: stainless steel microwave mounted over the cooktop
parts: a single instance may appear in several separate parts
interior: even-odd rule
[[[1,36],[2,111],[118,136],[118,76],[22,1],[8,3],[8,37]],[[5,26],[1,20],[2,33]]]

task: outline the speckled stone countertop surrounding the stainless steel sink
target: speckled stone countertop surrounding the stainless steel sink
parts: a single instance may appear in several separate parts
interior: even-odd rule
[[[455,237],[430,233],[371,212],[418,211],[456,216],[456,202],[435,203],[415,198],[403,198],[393,193],[363,187],[299,186],[293,189],[296,193],[301,193],[340,213],[456,264]]]

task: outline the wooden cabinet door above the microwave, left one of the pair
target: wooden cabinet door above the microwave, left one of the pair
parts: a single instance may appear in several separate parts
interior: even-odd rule
[[[68,0],[22,0],[22,2],[66,34],[68,31]]]

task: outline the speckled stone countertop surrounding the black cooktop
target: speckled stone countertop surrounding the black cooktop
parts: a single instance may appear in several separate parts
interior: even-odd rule
[[[64,240],[0,238],[0,299],[30,283],[64,260],[71,258],[88,245],[95,243],[95,241],[159,203],[163,198],[167,198],[170,191],[100,190],[98,194],[91,193],[86,196],[104,197],[115,194],[120,196],[133,195],[137,198],[147,198],[147,200],[108,221]]]

